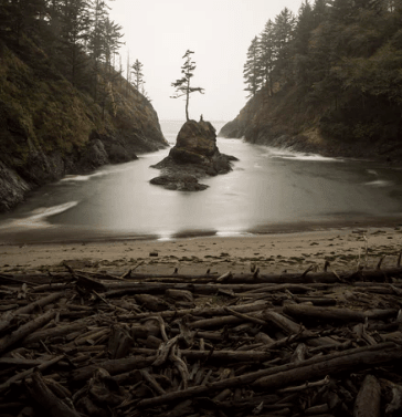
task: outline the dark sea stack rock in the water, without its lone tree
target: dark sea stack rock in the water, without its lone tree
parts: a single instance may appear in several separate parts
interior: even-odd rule
[[[200,191],[208,188],[198,183],[200,178],[229,173],[233,160],[237,158],[219,152],[216,131],[210,122],[188,121],[169,156],[152,166],[162,169],[162,175],[150,183],[172,190]]]

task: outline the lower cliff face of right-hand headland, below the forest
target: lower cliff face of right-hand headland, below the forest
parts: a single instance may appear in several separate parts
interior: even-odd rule
[[[219,135],[324,156],[401,160],[399,106],[377,97],[364,106],[360,101],[349,94],[317,105],[295,85],[272,96],[262,90]]]

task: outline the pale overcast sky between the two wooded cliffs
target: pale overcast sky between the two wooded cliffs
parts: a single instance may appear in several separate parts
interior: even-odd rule
[[[160,121],[186,118],[183,98],[170,98],[182,56],[194,51],[190,117],[231,121],[246,103],[243,65],[252,39],[268,19],[302,0],[115,0],[110,19],[123,27],[130,61],[144,64],[145,88]]]

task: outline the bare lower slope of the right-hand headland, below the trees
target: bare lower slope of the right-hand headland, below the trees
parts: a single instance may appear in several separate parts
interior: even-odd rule
[[[353,125],[349,121],[355,131],[361,129],[353,137],[348,131],[351,127],[343,125],[346,119],[329,117],[320,107],[315,106],[306,105],[306,111],[303,112],[302,102],[296,87],[269,97],[260,92],[233,121],[221,128],[219,136],[244,138],[255,145],[327,157],[369,158],[385,163],[399,163],[402,159],[399,121],[391,117],[382,124],[378,123],[382,126],[379,135],[370,131],[371,125],[359,121]]]

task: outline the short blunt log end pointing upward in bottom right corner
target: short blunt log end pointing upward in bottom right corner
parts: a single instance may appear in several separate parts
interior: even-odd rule
[[[366,375],[355,402],[353,417],[379,417],[381,387],[375,376]]]

